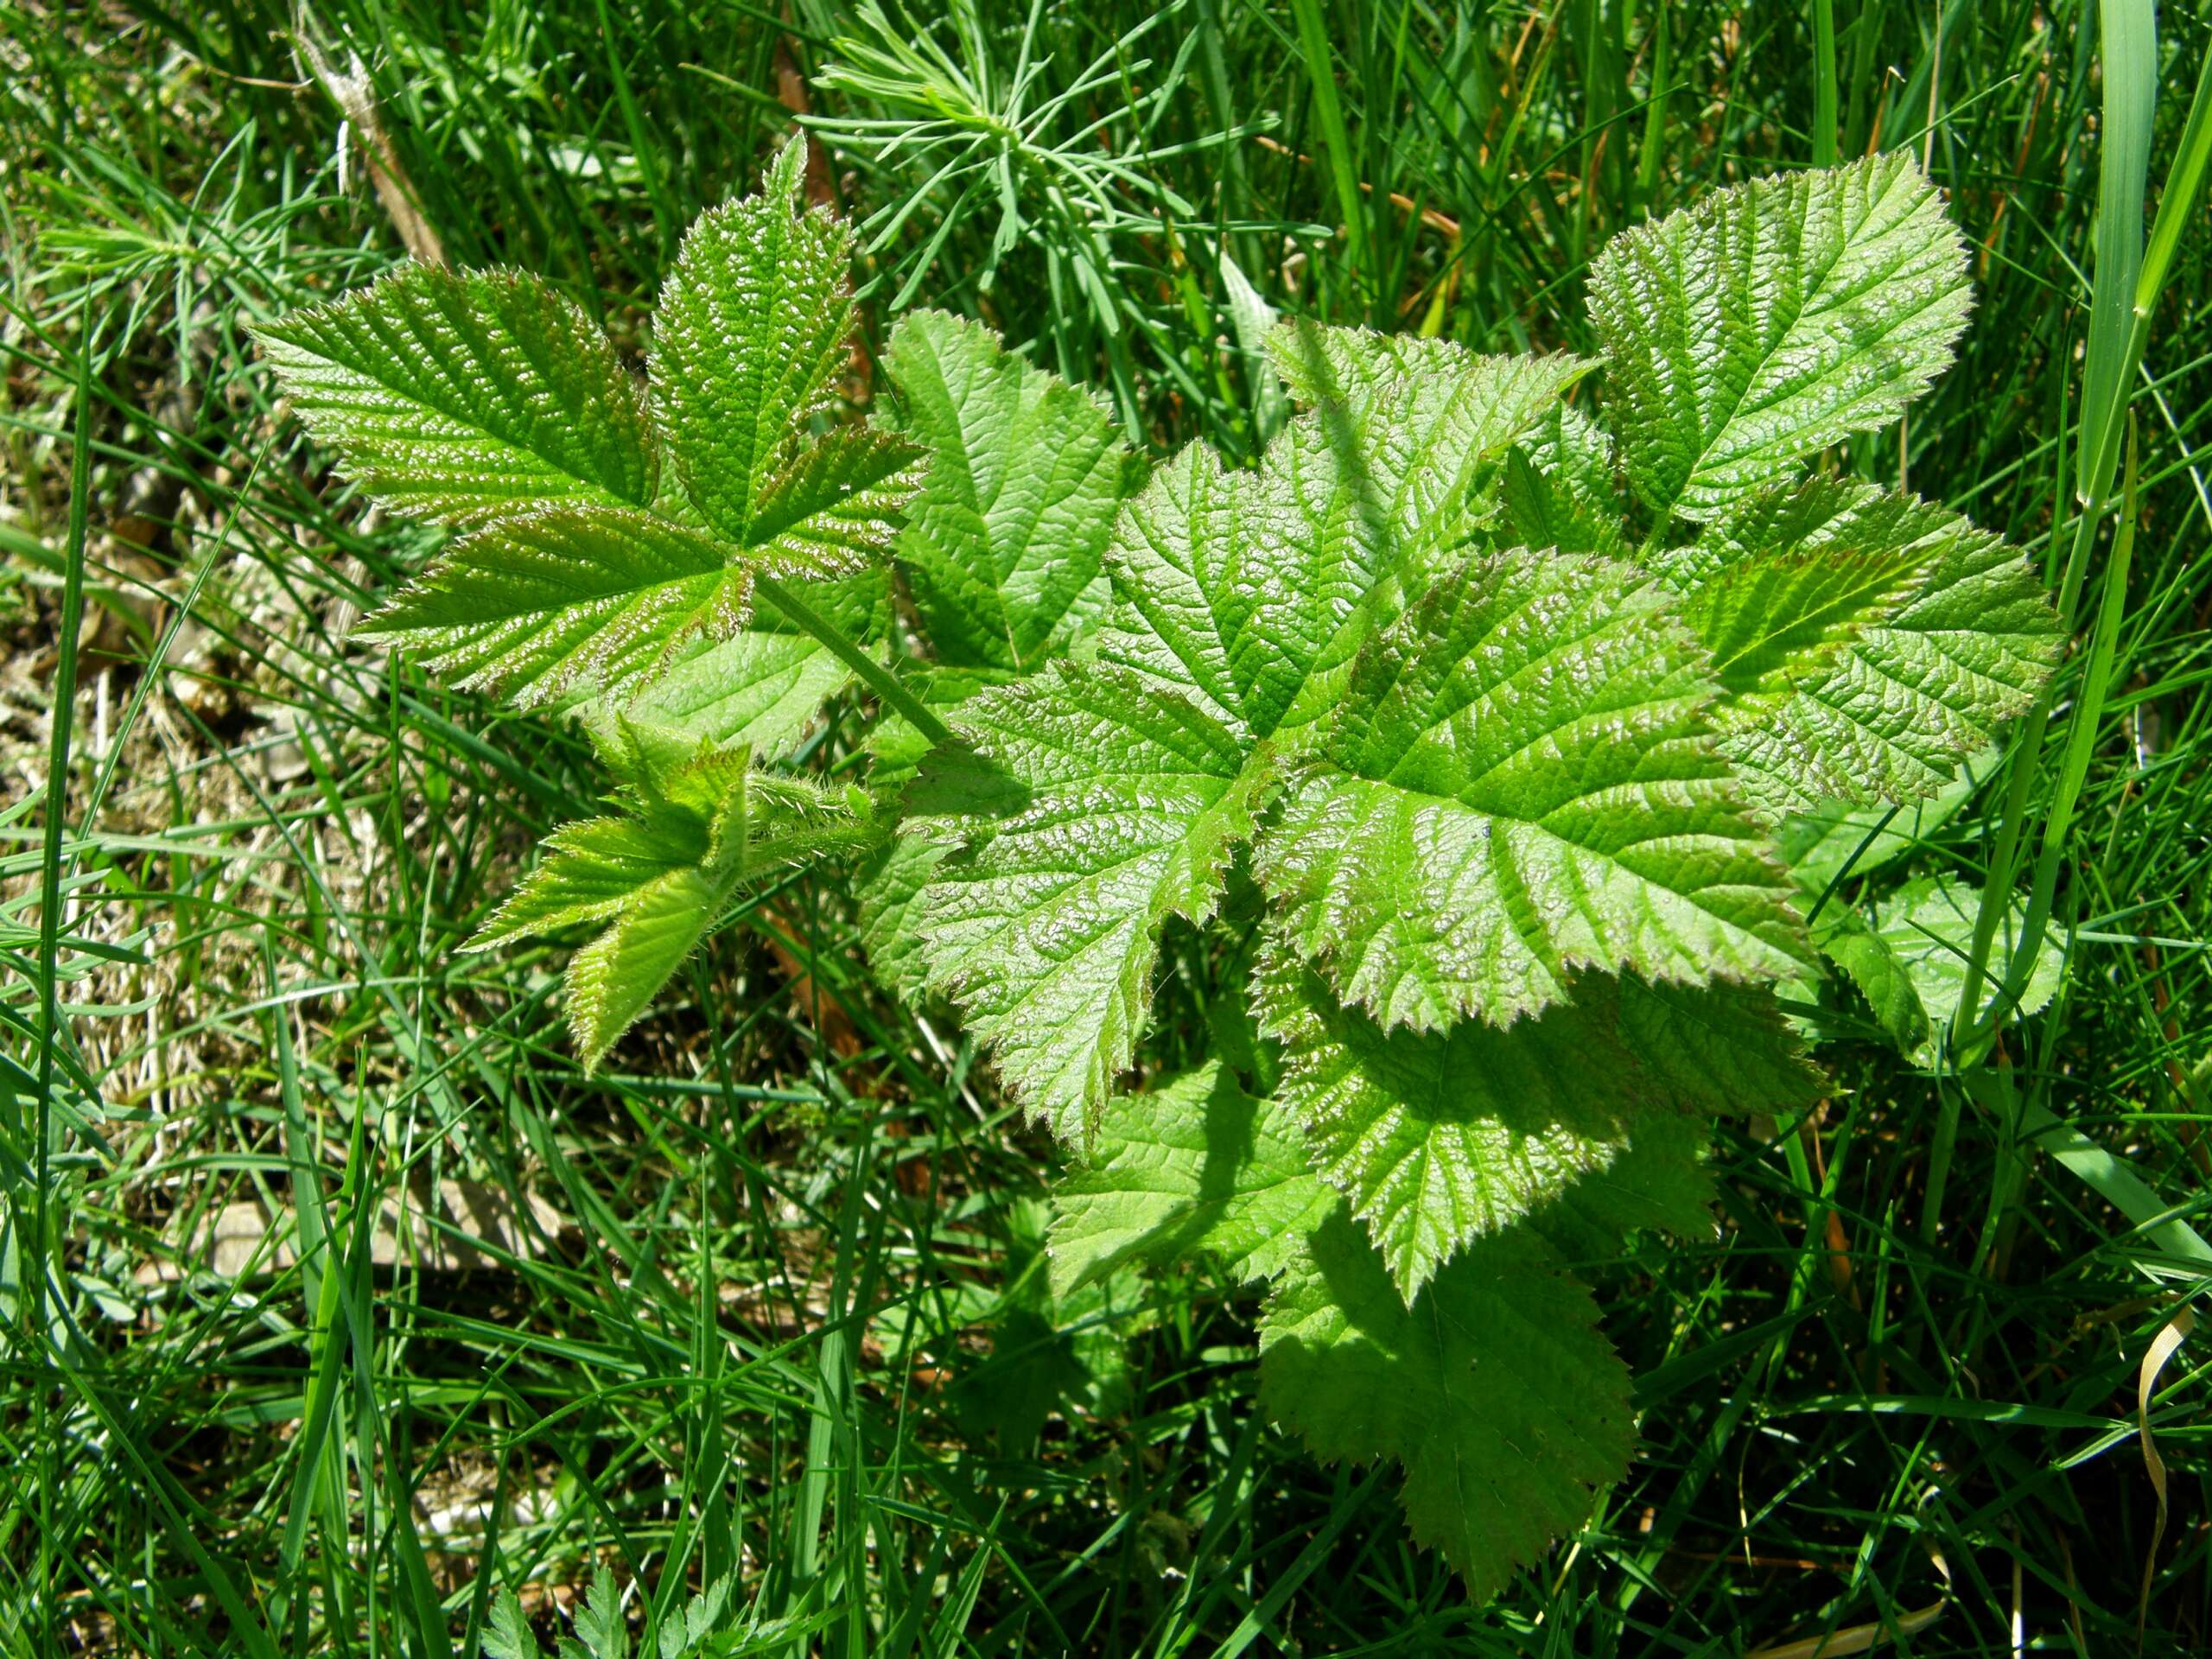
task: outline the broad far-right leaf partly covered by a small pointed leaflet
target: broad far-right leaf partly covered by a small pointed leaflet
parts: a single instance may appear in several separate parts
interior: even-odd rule
[[[2033,703],[2062,646],[2017,549],[1918,495],[1836,480],[1765,491],[1659,568],[1694,613],[1745,566],[1900,573],[1825,657],[1717,714],[1767,816],[1936,794]]]

